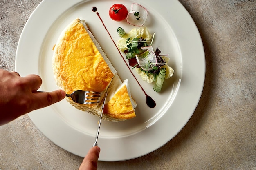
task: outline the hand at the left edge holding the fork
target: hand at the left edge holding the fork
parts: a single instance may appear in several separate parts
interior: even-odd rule
[[[38,75],[20,77],[16,72],[0,69],[0,125],[64,99],[63,90],[34,93],[41,84]]]

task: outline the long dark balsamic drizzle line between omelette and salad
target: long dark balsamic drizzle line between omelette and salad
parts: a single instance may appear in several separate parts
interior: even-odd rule
[[[93,12],[96,12],[96,11],[97,11],[97,8],[96,8],[96,7],[92,7],[92,11],[93,11]],[[106,31],[108,32],[108,29],[106,28],[106,26],[105,26],[103,20],[102,20],[101,17],[99,16],[99,13],[97,12],[96,14],[98,15],[99,19],[101,20],[101,22],[102,22],[104,28],[106,29]],[[108,32],[108,35],[110,36],[112,42],[115,44],[115,46],[116,46],[116,48],[117,48],[119,54],[121,55],[122,59],[124,60],[123,55],[122,55],[121,52],[119,51],[119,49],[118,49],[116,43],[114,42],[114,40],[113,40],[113,38],[112,38],[112,36],[110,35],[109,32]],[[126,63],[125,60],[124,60],[124,63],[125,63],[126,66],[129,68],[129,66],[128,66],[128,64]],[[130,68],[129,68],[129,70],[130,70]],[[131,70],[130,70],[130,72],[132,73]],[[133,77],[135,78],[135,80],[137,81],[137,83],[139,84],[139,82],[138,82],[138,80],[136,79],[135,75],[134,75],[133,73],[132,73],[132,75],[133,75]],[[140,86],[141,90],[144,92],[144,94],[146,95],[146,104],[148,105],[148,107],[154,108],[154,107],[156,106],[155,101],[152,99],[152,97],[150,97],[150,96],[144,91],[144,89],[142,88],[142,86],[141,86],[140,84],[139,84],[139,86]]]

